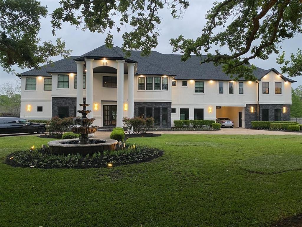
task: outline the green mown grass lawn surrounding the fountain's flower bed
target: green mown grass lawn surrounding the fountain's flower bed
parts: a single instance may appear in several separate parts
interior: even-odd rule
[[[269,226],[302,213],[302,137],[162,135],[148,163],[111,169],[3,164],[50,139],[0,137],[0,226]]]

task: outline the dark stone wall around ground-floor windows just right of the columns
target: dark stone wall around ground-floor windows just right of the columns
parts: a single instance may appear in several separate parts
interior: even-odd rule
[[[156,128],[171,128],[171,103],[170,102],[134,102],[134,117],[138,116],[139,107],[153,107],[152,116],[154,117],[154,107],[160,108],[160,124],[162,124],[162,107],[168,108],[168,125],[155,125]],[[145,108],[146,116],[146,108]]]

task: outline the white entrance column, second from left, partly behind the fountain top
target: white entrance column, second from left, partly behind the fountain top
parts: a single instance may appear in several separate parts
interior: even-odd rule
[[[85,58],[86,61],[86,103],[90,104],[87,110],[91,110],[88,113],[88,117],[93,117],[93,63],[94,59]]]

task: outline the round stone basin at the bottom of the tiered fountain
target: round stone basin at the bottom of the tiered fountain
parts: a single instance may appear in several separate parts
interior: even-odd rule
[[[49,152],[54,154],[77,154],[81,155],[102,153],[104,150],[115,150],[117,140],[89,139],[89,144],[78,144],[79,139],[53,140],[48,142]]]

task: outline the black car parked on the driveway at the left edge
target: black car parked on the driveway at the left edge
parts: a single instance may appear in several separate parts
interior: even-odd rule
[[[23,118],[0,117],[0,134],[38,133],[43,134],[46,124],[33,123]]]

